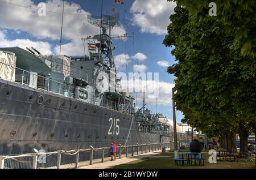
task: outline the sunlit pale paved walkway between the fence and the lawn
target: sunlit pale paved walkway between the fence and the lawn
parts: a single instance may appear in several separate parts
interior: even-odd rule
[[[104,163],[94,162],[93,165],[85,165],[85,166],[79,165],[78,169],[106,169],[106,168],[110,168],[111,166],[116,166],[116,165],[126,164],[131,161],[136,161],[144,157],[154,156],[161,152],[162,151],[154,151],[154,152],[143,153],[142,155],[134,155],[134,156],[122,157],[122,158],[117,157],[116,161],[110,161],[110,158],[105,158]]]

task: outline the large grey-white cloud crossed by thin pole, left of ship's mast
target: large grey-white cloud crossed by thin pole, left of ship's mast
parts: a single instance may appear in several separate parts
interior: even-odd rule
[[[16,32],[27,32],[39,40],[60,39],[62,0],[47,1],[46,16],[38,15],[38,5],[32,0],[13,0],[11,3],[1,3],[0,28],[13,29]],[[81,38],[99,33],[100,28],[87,22],[87,15],[90,13],[82,10],[80,5],[76,3],[65,1],[64,13],[63,39],[69,42],[63,44],[61,54],[83,55],[84,46]],[[124,33],[125,29],[122,25],[113,28],[113,35],[123,35]],[[87,54],[87,45],[85,45],[85,49]],[[42,49],[39,48],[39,50]],[[59,54],[58,47],[54,48],[54,50],[56,54]]]

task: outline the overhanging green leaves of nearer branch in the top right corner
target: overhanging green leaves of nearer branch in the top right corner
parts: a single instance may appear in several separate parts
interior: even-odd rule
[[[193,24],[207,22],[209,3],[212,1],[197,0],[167,0],[174,1],[188,9],[190,16],[197,16]],[[216,0],[216,19],[222,24],[225,31],[233,33],[234,38],[229,44],[232,50],[240,50],[242,55],[256,54],[256,1],[255,0]],[[233,31],[234,28],[236,31]]]

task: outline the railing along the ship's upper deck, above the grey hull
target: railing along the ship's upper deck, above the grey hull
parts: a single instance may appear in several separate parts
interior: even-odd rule
[[[42,76],[36,74],[35,72],[23,70],[19,67],[13,67],[7,65],[6,63],[0,62],[5,66],[9,66],[11,68],[15,68],[15,83],[26,85],[31,88],[39,89],[41,91],[46,91],[50,93],[54,93],[56,95],[68,97],[68,98],[75,98],[76,100],[80,100],[83,102],[87,102],[89,104],[102,106],[104,108],[114,109],[119,112],[122,112],[120,108],[121,105],[118,107],[118,103],[114,101],[107,100],[106,104],[102,102],[96,102],[95,95],[93,93],[88,92],[88,96],[86,98],[79,98],[75,95],[75,90],[79,90],[71,85],[64,84],[58,82],[57,80],[47,78],[46,76]],[[38,79],[38,81],[33,83],[33,79]],[[94,81],[93,81],[94,83]],[[55,87],[55,88],[53,88]]]

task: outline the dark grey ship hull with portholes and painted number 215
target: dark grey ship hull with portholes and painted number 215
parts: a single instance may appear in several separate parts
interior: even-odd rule
[[[0,79],[0,155],[108,147],[113,140],[135,145],[170,137],[140,132],[132,115]]]

